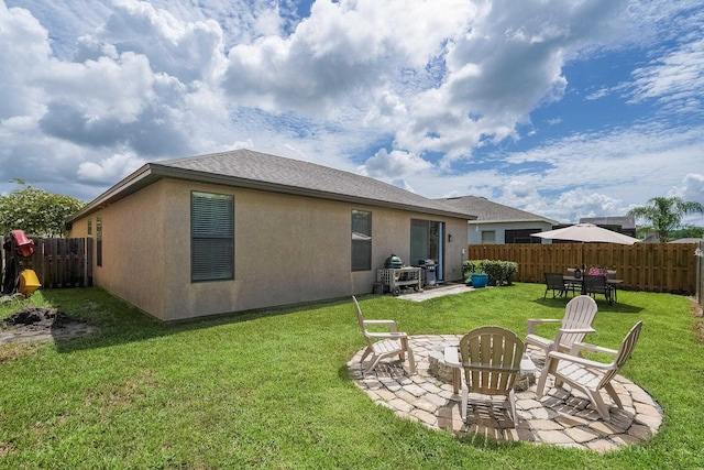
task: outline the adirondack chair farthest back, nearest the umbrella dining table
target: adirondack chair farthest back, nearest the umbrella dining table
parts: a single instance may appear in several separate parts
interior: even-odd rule
[[[586,334],[595,332],[592,328],[594,317],[598,307],[596,302],[588,295],[579,295],[568,302],[564,307],[564,317],[562,320],[557,318],[529,318],[528,319],[528,335],[526,336],[526,346],[532,345],[546,351],[546,354],[550,349],[557,349],[562,352],[569,352],[572,345],[575,342],[584,341]],[[554,339],[543,338],[536,335],[536,327],[540,324],[560,323],[562,326],[558,330]],[[557,345],[556,348],[552,348]]]

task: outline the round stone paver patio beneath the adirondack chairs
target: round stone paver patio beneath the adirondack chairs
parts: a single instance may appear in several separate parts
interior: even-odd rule
[[[535,383],[516,393],[518,423],[515,428],[506,411],[488,402],[470,404],[468,423],[464,423],[460,416],[461,395],[453,393],[440,360],[444,347],[457,345],[460,338],[461,335],[410,337],[417,367],[414,375],[409,375],[398,360],[382,361],[376,370],[364,373],[360,364],[363,349],[348,367],[355,383],[377,404],[430,428],[458,435],[481,434],[503,441],[543,442],[605,452],[640,444],[658,433],[661,407],[645,390],[622,375],[612,383],[624,409],[612,406],[610,422],[600,417],[585,395],[568,392],[568,385],[565,390],[556,389],[549,378],[546,396],[540,401],[536,398]],[[538,365],[536,374],[539,374],[544,363],[543,351],[529,348],[528,356]],[[604,395],[606,403],[612,403]]]

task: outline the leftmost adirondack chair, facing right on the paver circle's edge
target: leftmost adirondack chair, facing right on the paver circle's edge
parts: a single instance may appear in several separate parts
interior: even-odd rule
[[[366,349],[362,353],[360,362],[363,364],[364,359],[371,354],[370,365],[364,371],[371,372],[374,370],[382,359],[398,356],[403,361],[405,356],[408,354],[408,372],[415,374],[416,361],[414,351],[408,346],[408,335],[399,332],[394,320],[365,320],[356,297],[352,296],[352,300],[354,302],[360,329],[366,340]],[[367,329],[369,326],[383,326],[388,328],[388,331],[370,331]]]

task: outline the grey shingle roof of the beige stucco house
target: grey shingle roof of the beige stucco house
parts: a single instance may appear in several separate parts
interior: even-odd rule
[[[399,187],[328,166],[246,149],[147,163],[89,203],[68,223],[162,178],[317,197],[469,219],[462,211]]]

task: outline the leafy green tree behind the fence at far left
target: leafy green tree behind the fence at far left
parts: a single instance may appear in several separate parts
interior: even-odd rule
[[[66,219],[86,204],[70,196],[36,189],[22,179],[12,179],[24,186],[9,195],[0,195],[0,237],[11,230],[24,230],[40,237],[66,236]]]

